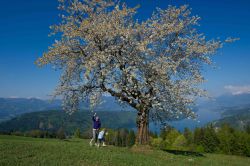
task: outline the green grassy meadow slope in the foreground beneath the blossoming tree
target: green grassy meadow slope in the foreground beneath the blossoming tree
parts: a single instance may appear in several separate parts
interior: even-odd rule
[[[35,139],[0,135],[0,165],[235,165],[247,166],[250,158],[218,154],[172,154],[143,147],[90,147],[88,140]]]

